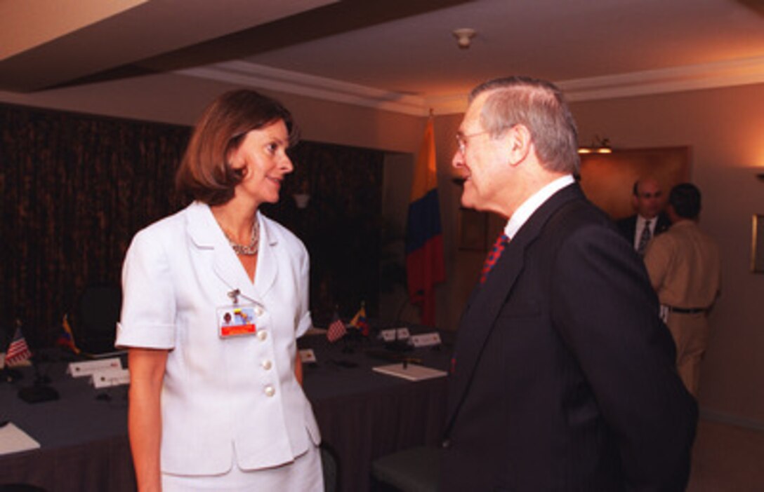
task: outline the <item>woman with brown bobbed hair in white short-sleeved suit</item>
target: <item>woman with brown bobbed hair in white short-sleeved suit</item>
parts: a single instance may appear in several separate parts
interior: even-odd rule
[[[290,113],[257,92],[207,108],[176,176],[195,201],[141,230],[123,266],[138,489],[323,490],[296,338],[309,259],[257,209],[293,166]]]

